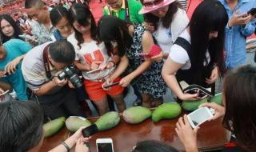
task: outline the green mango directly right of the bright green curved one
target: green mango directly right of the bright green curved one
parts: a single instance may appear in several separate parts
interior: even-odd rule
[[[202,98],[200,100],[184,100],[182,102],[182,108],[187,111],[194,111],[198,109],[198,106],[200,106],[202,103],[207,102],[207,98]]]

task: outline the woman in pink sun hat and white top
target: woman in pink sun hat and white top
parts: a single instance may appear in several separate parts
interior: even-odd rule
[[[162,48],[162,53],[153,59],[161,61],[168,57],[170,47],[186,29],[189,19],[182,5],[175,0],[142,0],[142,5],[139,14],[144,14],[144,26]]]

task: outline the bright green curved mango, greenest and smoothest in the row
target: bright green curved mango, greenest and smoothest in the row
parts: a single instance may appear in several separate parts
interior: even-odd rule
[[[182,108],[176,102],[163,103],[158,106],[152,114],[153,122],[158,122],[164,118],[176,118],[182,113]]]

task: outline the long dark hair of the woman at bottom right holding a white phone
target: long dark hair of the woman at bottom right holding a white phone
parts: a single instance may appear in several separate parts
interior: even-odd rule
[[[256,151],[255,92],[255,66],[241,66],[226,75],[223,86],[226,112],[222,123],[248,151]]]

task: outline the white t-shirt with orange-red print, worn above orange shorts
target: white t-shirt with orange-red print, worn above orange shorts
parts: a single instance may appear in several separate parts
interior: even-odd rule
[[[107,54],[106,46],[104,42],[97,45],[96,41],[82,43],[81,49],[79,49],[78,41],[74,37],[74,33],[70,34],[67,40],[74,46],[75,60],[82,64],[91,65],[94,61],[102,62],[101,64],[107,64],[111,57]],[[115,67],[111,69],[102,70],[97,73],[87,74],[87,71],[82,71],[82,76],[86,80],[97,80],[98,78],[104,78],[107,75],[113,73]]]

